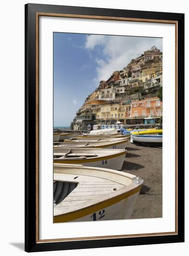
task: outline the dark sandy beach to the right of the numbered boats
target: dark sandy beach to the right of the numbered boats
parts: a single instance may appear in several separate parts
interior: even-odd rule
[[[132,218],[162,217],[162,147],[137,146],[128,142],[126,149],[122,171],[144,180]]]

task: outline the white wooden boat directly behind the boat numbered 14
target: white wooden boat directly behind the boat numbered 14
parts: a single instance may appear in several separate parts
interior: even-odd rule
[[[57,142],[54,147],[62,148],[108,148],[108,149],[125,149],[127,140],[120,141],[79,141],[79,142]]]

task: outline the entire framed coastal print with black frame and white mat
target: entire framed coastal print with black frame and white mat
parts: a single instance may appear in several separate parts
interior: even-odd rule
[[[178,242],[184,14],[25,5],[25,250]]]

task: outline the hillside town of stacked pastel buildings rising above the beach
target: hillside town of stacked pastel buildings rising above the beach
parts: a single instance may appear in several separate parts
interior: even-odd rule
[[[94,124],[150,124],[162,117],[162,101],[157,97],[162,87],[162,52],[155,46],[107,81],[101,81],[79,108],[71,123],[75,130]]]

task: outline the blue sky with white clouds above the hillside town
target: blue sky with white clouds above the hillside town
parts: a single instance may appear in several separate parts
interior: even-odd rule
[[[156,46],[162,51],[162,38],[53,34],[54,126],[70,126],[86,97],[144,51]]]

